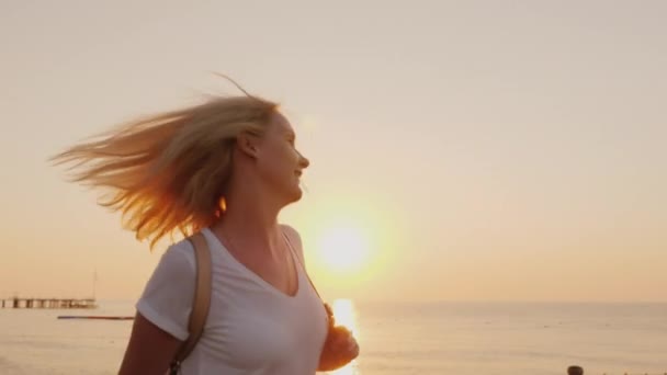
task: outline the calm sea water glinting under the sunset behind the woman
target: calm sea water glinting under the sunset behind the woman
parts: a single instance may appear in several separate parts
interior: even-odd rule
[[[667,304],[335,304],[360,357],[337,375],[667,373]],[[0,374],[114,374],[132,321],[58,315],[133,315],[132,302],[97,310],[0,309]]]

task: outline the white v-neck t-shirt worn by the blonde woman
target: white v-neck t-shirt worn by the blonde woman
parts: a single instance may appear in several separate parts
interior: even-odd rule
[[[212,258],[211,309],[182,374],[315,374],[327,315],[303,270],[301,249],[290,245],[298,291],[289,296],[237,261],[208,228],[202,232]],[[180,340],[188,338],[194,298],[193,251],[188,240],[169,247],[136,304],[146,319]]]

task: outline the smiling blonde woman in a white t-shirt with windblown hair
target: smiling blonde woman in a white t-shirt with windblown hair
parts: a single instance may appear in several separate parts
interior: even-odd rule
[[[176,231],[204,235],[211,308],[182,374],[314,374],[359,354],[351,332],[328,326],[298,232],[278,223],[301,198],[309,162],[276,103],[247,93],[215,98],[129,123],[54,159],[76,162],[75,181],[111,188],[101,204],[121,211],[151,248]],[[161,257],[136,304],[121,374],[165,374],[189,334],[194,264],[185,239]]]

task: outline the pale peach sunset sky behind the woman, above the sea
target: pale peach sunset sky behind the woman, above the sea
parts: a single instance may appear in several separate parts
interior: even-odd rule
[[[221,72],[280,102],[310,159],[281,221],[325,298],[667,302],[666,18],[664,1],[1,1],[0,297],[140,295],[168,243],[150,252],[47,159],[238,93]],[[347,269],[323,255],[340,228],[364,243]]]

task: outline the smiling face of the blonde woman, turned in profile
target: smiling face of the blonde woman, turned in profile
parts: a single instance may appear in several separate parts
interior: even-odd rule
[[[290,122],[274,112],[257,155],[261,179],[287,203],[301,198],[301,174],[309,164],[308,159],[296,150],[295,141],[296,135]]]

